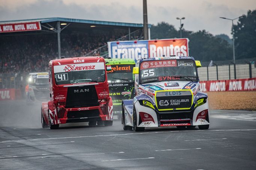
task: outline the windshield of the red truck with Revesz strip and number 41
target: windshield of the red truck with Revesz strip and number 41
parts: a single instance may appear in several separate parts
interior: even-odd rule
[[[84,82],[104,82],[104,63],[81,63],[54,66],[54,79],[57,85]]]

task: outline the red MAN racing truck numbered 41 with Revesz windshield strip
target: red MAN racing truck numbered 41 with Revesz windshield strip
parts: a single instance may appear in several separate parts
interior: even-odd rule
[[[103,57],[62,57],[51,60],[48,69],[50,101],[42,103],[43,128],[57,129],[59,124],[70,122],[113,124]]]

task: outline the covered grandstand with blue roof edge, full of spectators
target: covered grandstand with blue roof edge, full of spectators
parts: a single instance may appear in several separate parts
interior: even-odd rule
[[[0,21],[0,74],[47,71],[60,55],[105,56],[108,41],[142,39],[142,29],[143,24],[70,18]]]

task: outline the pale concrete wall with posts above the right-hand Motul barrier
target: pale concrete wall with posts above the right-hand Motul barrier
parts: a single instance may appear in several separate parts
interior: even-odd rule
[[[217,80],[216,66],[208,67],[209,80]],[[252,77],[256,77],[256,68],[251,66]],[[198,75],[201,81],[207,80],[207,67],[198,68]],[[250,78],[249,64],[236,64],[236,79]],[[218,66],[218,79],[229,79],[229,65]],[[230,79],[234,79],[234,66],[230,65]]]

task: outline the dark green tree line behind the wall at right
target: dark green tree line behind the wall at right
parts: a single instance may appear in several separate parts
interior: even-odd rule
[[[232,28],[230,28],[232,33]],[[151,39],[179,38],[180,31],[167,22],[151,27]],[[182,29],[182,37],[188,38],[189,55],[201,61],[233,59],[232,39],[225,34],[212,35],[206,30]],[[256,10],[248,10],[234,25],[236,59],[256,57]]]

